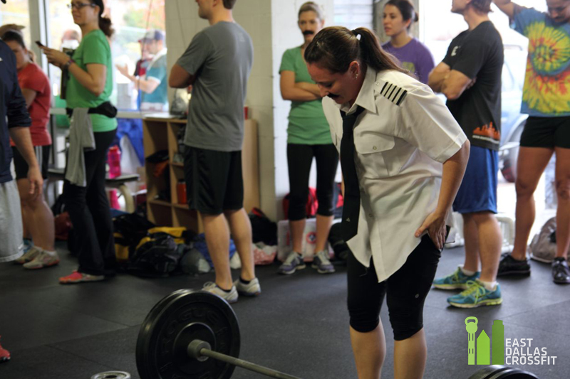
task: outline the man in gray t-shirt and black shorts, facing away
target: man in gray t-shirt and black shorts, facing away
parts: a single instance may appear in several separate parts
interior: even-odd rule
[[[252,226],[243,207],[242,142],[247,79],[253,44],[234,22],[236,0],[197,1],[198,15],[210,26],[197,33],[170,71],[169,85],[192,85],[185,144],[185,180],[190,208],[199,211],[216,282],[204,290],[229,303],[261,293],[255,277]],[[228,228],[229,224],[229,228]],[[242,261],[232,282],[229,231]]]

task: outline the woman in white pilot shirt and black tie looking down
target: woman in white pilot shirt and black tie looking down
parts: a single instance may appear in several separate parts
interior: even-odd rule
[[[343,231],[353,252],[348,311],[358,378],[380,378],[384,297],[394,331],[395,378],[422,378],[423,304],[469,142],[445,104],[398,68],[368,29],[324,28],[307,47],[305,60],[341,153]],[[351,118],[355,124],[348,124]],[[356,199],[352,209],[349,198]]]

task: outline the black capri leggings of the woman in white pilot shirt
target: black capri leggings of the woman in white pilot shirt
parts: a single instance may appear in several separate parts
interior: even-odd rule
[[[369,268],[348,256],[348,314],[354,330],[367,333],[380,322],[380,307],[388,294],[388,314],[395,341],[410,338],[423,328],[423,304],[430,292],[441,257],[429,235],[408,256],[404,265],[378,283],[371,259]]]

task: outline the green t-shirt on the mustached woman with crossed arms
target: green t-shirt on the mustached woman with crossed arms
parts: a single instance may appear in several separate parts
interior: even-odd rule
[[[279,73],[293,71],[295,82],[315,84],[309,75],[307,65],[301,56],[301,47],[286,50],[281,60]],[[292,101],[287,127],[288,144],[323,145],[332,144],[331,130],[328,128],[321,99]]]

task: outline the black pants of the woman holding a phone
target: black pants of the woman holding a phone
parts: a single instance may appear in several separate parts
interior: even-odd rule
[[[86,151],[86,187],[63,182],[63,201],[73,229],[81,240],[78,272],[103,275],[115,269],[115,240],[110,206],[105,193],[107,151],[115,130],[93,133],[95,150]]]

